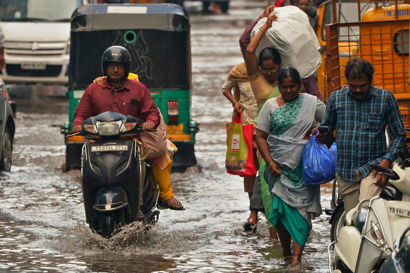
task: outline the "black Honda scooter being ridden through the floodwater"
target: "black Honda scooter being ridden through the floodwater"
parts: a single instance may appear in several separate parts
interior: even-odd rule
[[[85,218],[90,229],[105,238],[136,221],[145,229],[158,222],[159,186],[144,161],[145,145],[132,139],[142,131],[138,121],[105,112],[85,119],[82,132],[67,136],[90,140],[81,156]]]

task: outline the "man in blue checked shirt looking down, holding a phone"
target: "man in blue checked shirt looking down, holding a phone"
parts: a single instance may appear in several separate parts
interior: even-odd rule
[[[321,125],[336,129],[336,179],[346,213],[360,200],[380,195],[387,181],[371,172],[370,164],[384,168],[399,156],[406,132],[393,93],[372,85],[374,68],[363,59],[350,59],[345,76],[348,87],[329,96]],[[385,128],[392,139],[386,147]],[[317,138],[322,141],[325,133]]]

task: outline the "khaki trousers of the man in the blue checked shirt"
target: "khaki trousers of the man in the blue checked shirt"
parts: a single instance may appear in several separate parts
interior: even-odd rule
[[[337,188],[339,194],[343,197],[343,204],[346,213],[355,208],[363,199],[370,199],[378,196],[381,193],[381,187],[376,186],[377,177],[372,179],[373,171],[368,176],[362,178],[360,173],[356,171],[355,182],[346,181],[336,173]]]

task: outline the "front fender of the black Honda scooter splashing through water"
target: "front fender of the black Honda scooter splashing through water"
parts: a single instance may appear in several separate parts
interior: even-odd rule
[[[128,197],[121,187],[104,187],[98,190],[94,209],[96,211],[105,212],[124,208],[131,213],[131,208],[128,203]]]

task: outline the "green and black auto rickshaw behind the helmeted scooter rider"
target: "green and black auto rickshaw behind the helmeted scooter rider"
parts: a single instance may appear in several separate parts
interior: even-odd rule
[[[194,145],[199,124],[191,119],[190,23],[176,4],[90,4],[74,11],[71,19],[69,66],[69,121],[84,90],[102,76],[101,56],[121,45],[132,56],[131,73],[150,90],[164,116],[167,138],[178,148],[172,168],[183,171],[197,164]],[[65,169],[80,168],[82,137],[66,140]]]

